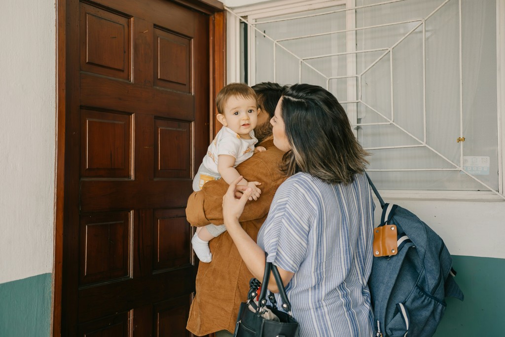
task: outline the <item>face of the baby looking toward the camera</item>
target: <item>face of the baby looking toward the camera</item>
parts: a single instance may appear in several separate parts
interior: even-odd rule
[[[224,105],[223,115],[224,126],[244,138],[250,138],[249,132],[258,124],[256,100],[232,96]]]

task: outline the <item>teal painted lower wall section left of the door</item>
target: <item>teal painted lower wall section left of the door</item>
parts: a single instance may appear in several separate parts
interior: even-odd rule
[[[0,284],[0,336],[49,337],[52,274]]]

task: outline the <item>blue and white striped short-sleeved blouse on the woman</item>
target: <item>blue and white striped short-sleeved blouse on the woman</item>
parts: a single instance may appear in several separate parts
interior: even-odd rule
[[[300,337],[373,335],[374,207],[364,174],[331,185],[297,173],[277,190],[258,244],[269,262],[294,273],[286,291]]]

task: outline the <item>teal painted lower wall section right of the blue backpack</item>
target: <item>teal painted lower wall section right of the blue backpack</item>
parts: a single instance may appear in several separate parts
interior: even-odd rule
[[[465,300],[445,299],[447,308],[434,336],[503,336],[505,259],[452,256],[452,266]]]

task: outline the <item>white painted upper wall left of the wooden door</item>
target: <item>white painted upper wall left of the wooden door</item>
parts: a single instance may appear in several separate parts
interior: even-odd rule
[[[0,283],[53,270],[56,9],[3,0]]]

